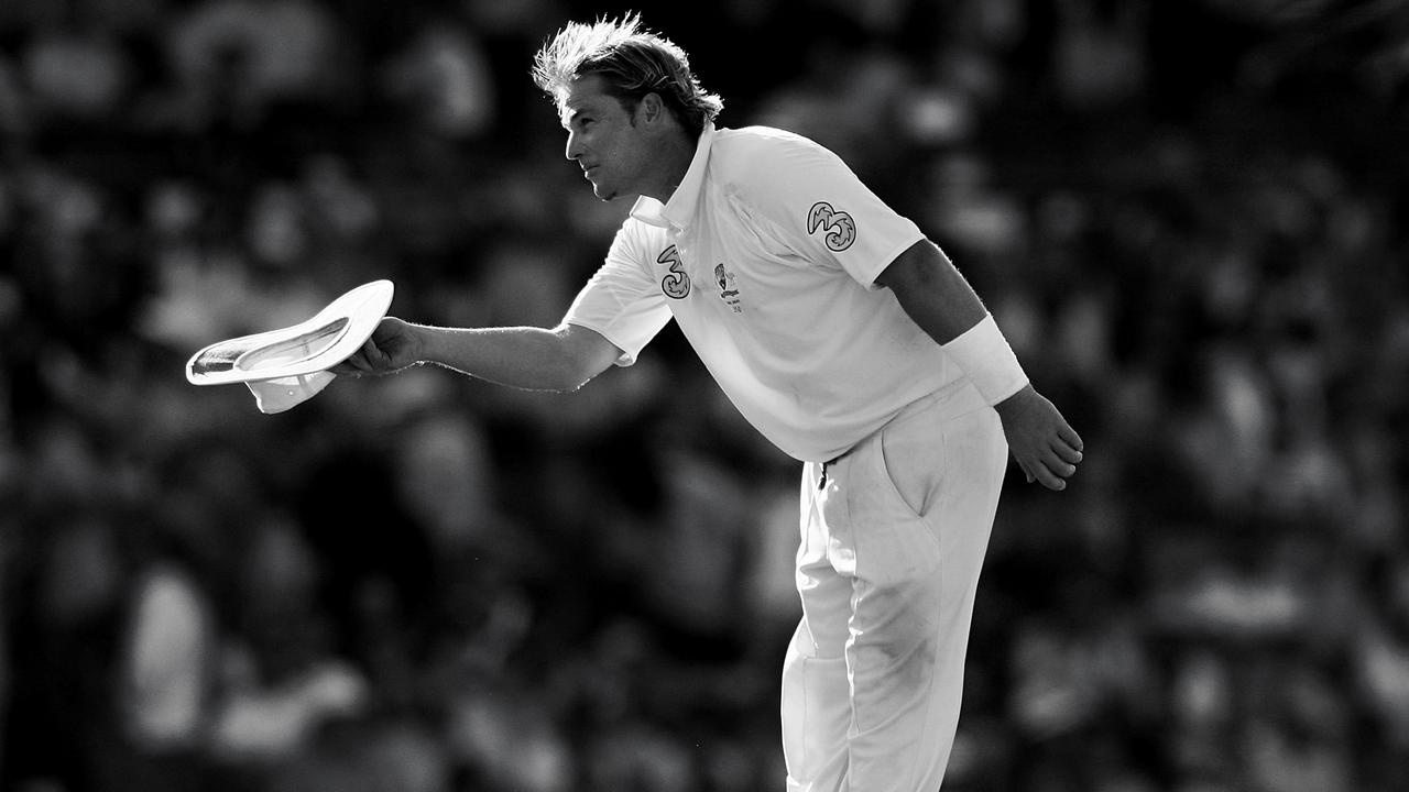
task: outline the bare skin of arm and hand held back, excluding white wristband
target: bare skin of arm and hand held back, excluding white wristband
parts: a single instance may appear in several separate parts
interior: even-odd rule
[[[929,240],[896,256],[876,276],[876,283],[895,292],[900,307],[940,345],[955,341],[988,318],[988,309],[972,286],[944,251]],[[993,407],[1003,421],[1009,450],[1027,481],[1048,489],[1065,489],[1065,479],[1076,472],[1081,462],[1082,441],[1057,407],[1030,383],[1005,393]]]

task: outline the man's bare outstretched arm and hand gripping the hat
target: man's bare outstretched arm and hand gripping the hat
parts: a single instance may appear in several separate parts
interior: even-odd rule
[[[431,327],[386,317],[335,373],[382,375],[417,364],[445,368],[527,390],[576,390],[606,371],[621,351],[575,324],[542,327]]]

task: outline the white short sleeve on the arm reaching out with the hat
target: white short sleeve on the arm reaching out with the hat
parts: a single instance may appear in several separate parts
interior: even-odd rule
[[[628,220],[612,241],[606,261],[578,292],[564,317],[566,324],[593,330],[621,349],[616,365],[635,362],[641,349],[671,320],[659,285],[641,255],[644,240]]]

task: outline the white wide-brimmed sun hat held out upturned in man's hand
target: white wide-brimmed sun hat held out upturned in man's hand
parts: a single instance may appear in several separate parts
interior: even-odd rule
[[[244,383],[261,413],[307,402],[337,376],[327,371],[356,352],[392,306],[390,280],[373,280],[328,303],[313,318],[268,333],[217,341],[186,362],[192,385]]]

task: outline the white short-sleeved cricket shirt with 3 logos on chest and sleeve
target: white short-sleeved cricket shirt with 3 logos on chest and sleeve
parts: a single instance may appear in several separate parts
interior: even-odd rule
[[[821,145],[709,127],[671,200],[637,200],[565,321],[631,365],[674,317],[764,437],[823,462],[921,396],[944,390],[955,416],[985,406],[875,285],[923,238]]]

